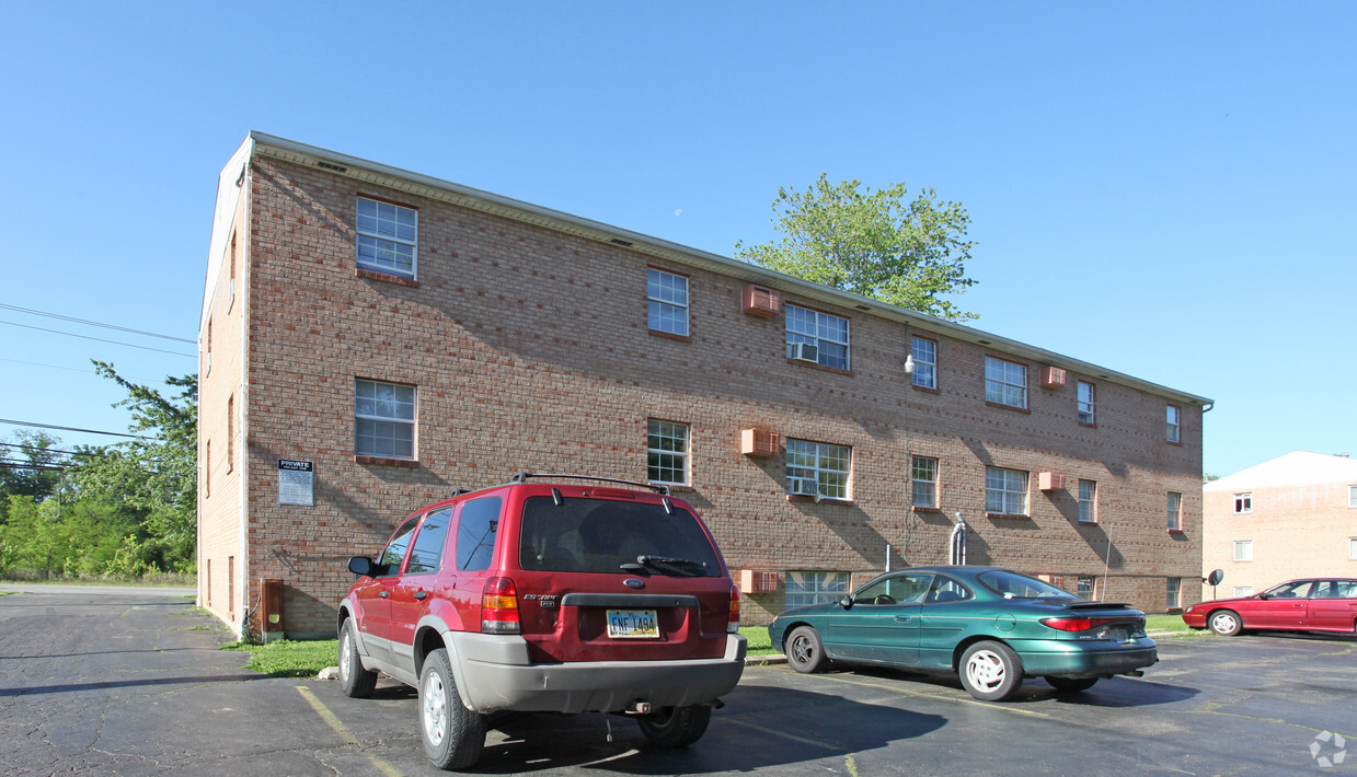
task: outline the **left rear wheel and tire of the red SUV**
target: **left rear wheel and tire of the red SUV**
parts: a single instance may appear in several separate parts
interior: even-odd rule
[[[470,769],[486,744],[486,723],[461,704],[444,648],[425,658],[419,674],[419,738],[438,769]]]

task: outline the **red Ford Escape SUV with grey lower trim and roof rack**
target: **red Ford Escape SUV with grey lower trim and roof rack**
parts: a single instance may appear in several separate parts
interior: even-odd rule
[[[499,712],[627,713],[683,747],[744,670],[738,589],[664,485],[520,472],[411,514],[349,570],[341,686],[417,688],[441,769],[474,765]]]

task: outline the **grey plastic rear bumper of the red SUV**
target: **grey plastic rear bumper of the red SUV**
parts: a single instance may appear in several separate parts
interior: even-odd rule
[[[730,693],[745,669],[745,637],[726,635],[726,654],[689,660],[529,663],[522,637],[444,632],[457,689],[474,712],[620,712],[708,704]]]

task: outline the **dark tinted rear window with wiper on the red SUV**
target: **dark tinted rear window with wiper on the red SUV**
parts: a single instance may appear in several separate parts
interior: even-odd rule
[[[527,571],[716,578],[721,561],[697,517],[680,507],[532,496],[522,507],[518,565]],[[627,568],[623,568],[627,565]]]

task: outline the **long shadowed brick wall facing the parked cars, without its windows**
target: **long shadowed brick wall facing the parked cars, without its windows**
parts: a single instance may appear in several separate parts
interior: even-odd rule
[[[1151,610],[1166,575],[1197,575],[1191,405],[1186,443],[1168,445],[1163,397],[1094,378],[1098,427],[1082,427],[1076,376],[1042,389],[1042,365],[1026,361],[1030,412],[991,407],[984,355],[997,351],[935,332],[915,334],[939,340],[940,392],[919,392],[901,369],[904,324],[788,286],[784,302],[851,320],[852,372],[818,369],[786,358],[783,316],[741,311],[746,282],[733,277],[265,157],[248,186],[250,578],[285,580],[289,633],[332,632],[345,560],[456,487],[517,469],[645,479],[647,418],[691,424],[693,490],[680,495],[733,571],[867,575],[886,544],[894,565],[946,561],[959,510],[972,563],[1102,575],[1110,533],[1109,595]],[[356,277],[358,194],[419,210],[418,287]],[[689,340],[647,332],[647,266],[689,277]],[[418,386],[417,466],[354,461],[356,377]],[[788,500],[783,456],[740,453],[746,427],[852,446],[851,503]],[[943,513],[909,510],[913,454],[940,460]],[[315,461],[315,507],[277,503],[278,458]],[[1031,518],[985,518],[987,462],[1031,473]],[[1096,480],[1102,522],[1077,526],[1071,492],[1037,491],[1039,471],[1065,473],[1073,494],[1079,477]],[[1178,537],[1164,527],[1167,491],[1183,494]],[[780,591],[749,595],[745,621],[780,609]]]

